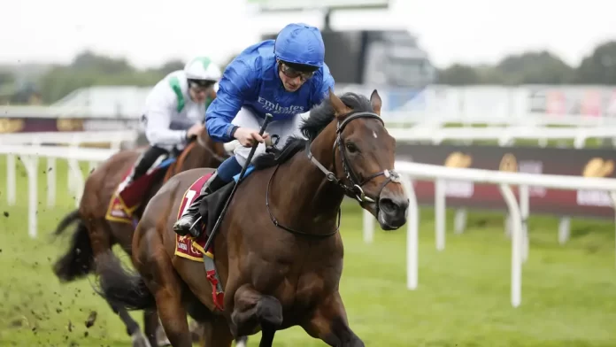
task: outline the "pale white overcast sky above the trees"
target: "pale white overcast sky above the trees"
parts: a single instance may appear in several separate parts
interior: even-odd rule
[[[508,53],[540,49],[577,65],[597,42],[616,40],[613,0],[392,1],[390,12],[341,13],[333,27],[406,27],[437,66],[494,63]],[[86,48],[124,56],[138,67],[194,54],[224,62],[257,42],[262,30],[296,21],[321,25],[318,12],[256,18],[246,0],[2,3],[0,63],[68,62]]]

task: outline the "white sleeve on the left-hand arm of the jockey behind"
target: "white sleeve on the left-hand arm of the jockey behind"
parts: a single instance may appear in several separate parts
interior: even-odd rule
[[[177,97],[168,83],[158,83],[146,102],[145,136],[150,143],[173,145],[186,143],[186,130],[170,129],[172,114],[177,107]]]

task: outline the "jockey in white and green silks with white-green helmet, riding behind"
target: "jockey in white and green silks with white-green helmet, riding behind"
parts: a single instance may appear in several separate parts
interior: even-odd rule
[[[137,159],[119,190],[146,174],[157,158],[183,150],[190,137],[204,130],[205,110],[212,103],[221,75],[210,58],[196,57],[183,70],[158,81],[146,98],[142,115],[150,148]]]

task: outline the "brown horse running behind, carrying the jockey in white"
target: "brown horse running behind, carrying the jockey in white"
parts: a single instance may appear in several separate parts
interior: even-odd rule
[[[105,214],[114,191],[130,167],[135,164],[140,151],[140,149],[122,150],[98,166],[85,182],[79,209],[68,213],[59,223],[55,235],[60,235],[73,222],[78,222],[70,248],[54,264],[54,273],[60,281],[76,281],[95,270],[95,259],[98,255],[111,250],[116,243],[129,255],[132,253],[131,243],[135,225],[107,220]],[[154,182],[147,189],[147,194],[143,196],[133,216],[136,220],[141,218],[150,198],[173,175],[196,167],[218,167],[227,156],[223,144],[213,142],[204,131],[181,151],[171,166],[158,172],[158,177],[153,178]],[[112,309],[119,314],[126,325],[127,333],[133,339],[133,345],[147,346],[146,337],[137,322],[128,315],[127,310],[114,305]],[[151,346],[158,345],[155,337],[158,314],[155,310],[146,311],[143,319],[147,340]]]

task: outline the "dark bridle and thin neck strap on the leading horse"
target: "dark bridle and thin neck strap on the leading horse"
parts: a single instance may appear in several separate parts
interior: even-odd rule
[[[340,119],[343,119],[342,122]],[[364,179],[364,181],[359,181],[358,179],[358,174],[355,174],[355,172],[353,171],[353,169],[350,166],[350,161],[349,158],[347,158],[346,156],[346,152],[344,150],[344,139],[343,139],[343,130],[344,127],[346,127],[352,120],[357,120],[359,118],[372,118],[372,119],[376,119],[379,120],[381,122],[381,124],[384,126],[385,123],[383,122],[383,120],[381,119],[381,117],[374,113],[374,112],[350,112],[347,115],[344,115],[342,117],[340,117],[337,121],[337,127],[336,127],[336,138],[335,138],[335,142],[334,142],[334,146],[332,147],[332,154],[333,154],[333,162],[334,162],[334,170],[335,170],[335,153],[336,153],[336,147],[338,149],[338,152],[340,153],[340,156],[342,157],[342,164],[343,164],[343,170],[344,170],[344,178],[343,179],[338,179],[336,177],[336,174],[327,170],[327,168],[325,166],[323,166],[319,160],[317,160],[316,158],[314,158],[314,156],[312,155],[312,151],[310,150],[310,146],[312,144],[312,141],[314,139],[308,139],[308,141],[306,142],[306,155],[308,156],[308,158],[310,159],[311,163],[314,166],[317,166],[320,171],[325,174],[325,176],[327,177],[327,181],[331,181],[334,182],[337,186],[339,186],[340,188],[343,189],[344,191],[344,195],[350,198],[353,198],[355,200],[357,200],[360,204],[361,203],[374,203],[376,204],[376,214],[378,216],[378,213],[380,212],[381,208],[379,205],[379,200],[381,197],[381,192],[382,190],[385,188],[385,186],[387,186],[389,184],[389,182],[400,182],[400,175],[397,174],[397,172],[394,169],[386,169],[383,171],[380,171],[378,173],[375,174],[370,174],[369,176],[366,177],[366,179]],[[337,144],[337,146],[336,146]],[[327,233],[327,234],[312,234],[312,233],[306,233],[304,231],[297,231],[294,230],[290,227],[285,227],[283,225],[281,225],[281,223],[276,220],[275,217],[273,217],[272,212],[270,211],[270,206],[269,206],[269,191],[270,191],[270,186],[272,185],[272,181],[273,181],[273,176],[274,174],[276,174],[276,171],[278,171],[278,168],[280,166],[276,166],[276,168],[273,170],[272,175],[270,176],[269,181],[267,182],[267,189],[266,189],[266,207],[267,207],[267,212],[270,215],[270,219],[272,220],[273,224],[276,227],[281,227],[284,230],[289,231],[292,234],[297,234],[297,235],[305,235],[305,236],[310,236],[310,237],[317,237],[317,238],[325,238],[331,235],[335,235],[338,230],[340,229],[340,220],[341,220],[341,210],[340,208],[338,209],[338,223],[337,226],[335,228],[335,230],[333,232]],[[366,193],[364,192],[364,189],[362,189],[362,187],[369,181],[372,181],[374,178],[379,177],[379,176],[385,176],[386,180],[383,181],[381,183],[381,187],[379,188],[379,193],[376,197],[368,197],[366,196]],[[347,184],[345,181],[350,181],[350,184]]]

